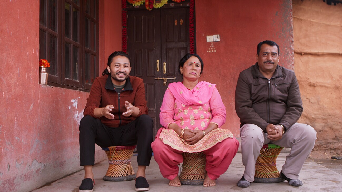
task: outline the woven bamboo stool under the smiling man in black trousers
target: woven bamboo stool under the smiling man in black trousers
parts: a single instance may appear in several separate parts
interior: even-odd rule
[[[131,181],[136,178],[131,158],[136,146],[114,146],[103,147],[108,157],[109,167],[106,175],[102,178],[105,181]]]

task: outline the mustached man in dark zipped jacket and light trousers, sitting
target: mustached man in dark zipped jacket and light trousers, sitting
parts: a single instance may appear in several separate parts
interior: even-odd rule
[[[278,65],[279,46],[269,40],[260,42],[257,60],[240,73],[235,91],[245,166],[237,186],[249,187],[254,181],[260,149],[270,143],[291,148],[280,176],[291,186],[302,186],[299,172],[315,145],[316,131],[297,123],[303,112],[298,81],[293,71]]]

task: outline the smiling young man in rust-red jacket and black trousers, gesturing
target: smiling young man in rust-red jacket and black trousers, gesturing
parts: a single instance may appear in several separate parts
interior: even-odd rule
[[[135,190],[149,190],[145,169],[152,155],[153,120],[147,115],[143,80],[129,76],[131,69],[129,56],[114,52],[102,76],[93,82],[79,127],[84,166],[80,192],[93,191],[95,143],[100,147],[137,145]]]

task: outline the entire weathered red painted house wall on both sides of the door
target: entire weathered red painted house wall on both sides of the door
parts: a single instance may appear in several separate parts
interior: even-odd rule
[[[276,41],[280,64],[293,69],[292,1],[243,3],[196,0],[201,80],[217,85],[227,110],[224,128],[237,137],[236,80],[255,63],[257,44]],[[38,84],[39,1],[2,1],[0,25],[0,188],[30,191],[81,168],[78,125],[89,93]],[[100,0],[99,28],[101,75],[109,54],[121,50],[121,1]],[[221,41],[209,53],[206,35],[216,34]],[[106,159],[100,148],[95,156]]]

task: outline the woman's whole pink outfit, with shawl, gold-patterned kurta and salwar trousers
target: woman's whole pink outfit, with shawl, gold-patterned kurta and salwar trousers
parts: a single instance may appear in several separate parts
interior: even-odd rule
[[[183,162],[182,152],[203,151],[210,179],[218,178],[228,169],[239,142],[230,131],[220,128],[225,123],[226,111],[214,84],[201,81],[190,91],[181,82],[170,83],[160,110],[163,128],[158,130],[152,149],[163,177],[169,180],[176,177],[178,164]],[[171,123],[192,130],[205,130],[210,123],[219,128],[189,145],[175,131],[168,129]]]

